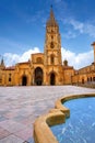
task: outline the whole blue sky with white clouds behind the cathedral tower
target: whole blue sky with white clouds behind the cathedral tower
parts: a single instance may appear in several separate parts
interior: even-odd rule
[[[60,28],[62,59],[75,68],[93,62],[94,0],[0,0],[0,55],[8,66],[44,52],[51,4]]]

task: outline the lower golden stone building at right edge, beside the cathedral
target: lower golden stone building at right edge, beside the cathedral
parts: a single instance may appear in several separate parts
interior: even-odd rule
[[[74,72],[72,76],[73,85],[95,87],[95,42],[92,44],[94,50],[94,63]]]

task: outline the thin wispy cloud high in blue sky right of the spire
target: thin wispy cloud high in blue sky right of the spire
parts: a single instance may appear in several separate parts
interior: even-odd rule
[[[91,21],[81,22],[72,18],[66,20],[60,18],[59,20],[68,26],[67,34],[62,34],[67,38],[74,38],[79,34],[87,34],[91,37],[95,37],[95,25]]]

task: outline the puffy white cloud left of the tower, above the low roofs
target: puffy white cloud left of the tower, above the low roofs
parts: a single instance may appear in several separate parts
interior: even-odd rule
[[[34,47],[32,50],[24,52],[22,55],[4,53],[3,58],[4,58],[5,66],[12,66],[20,62],[27,62],[31,57],[31,54],[34,53],[39,53],[39,48]]]

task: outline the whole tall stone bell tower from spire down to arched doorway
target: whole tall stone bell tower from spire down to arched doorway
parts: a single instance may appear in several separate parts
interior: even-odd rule
[[[46,40],[44,48],[44,65],[46,67],[47,85],[60,85],[62,70],[61,59],[61,37],[59,25],[55,19],[52,7],[50,15],[46,23]]]

